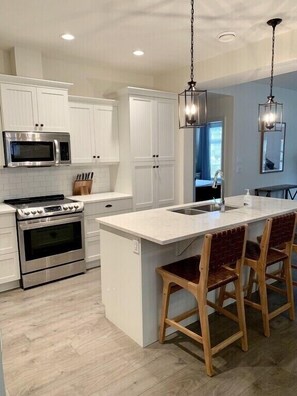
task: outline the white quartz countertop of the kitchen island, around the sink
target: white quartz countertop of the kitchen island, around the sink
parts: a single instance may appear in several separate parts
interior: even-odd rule
[[[190,216],[170,211],[174,208],[196,207],[211,202],[205,201],[102,217],[97,220],[100,225],[124,231],[160,245],[166,245],[204,235],[206,232],[252,223],[269,216],[297,210],[297,201],[251,196],[252,206],[249,207],[243,206],[243,197],[243,195],[240,195],[226,198],[226,205],[235,206],[237,209],[224,213],[216,211]]]

